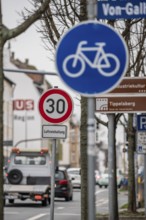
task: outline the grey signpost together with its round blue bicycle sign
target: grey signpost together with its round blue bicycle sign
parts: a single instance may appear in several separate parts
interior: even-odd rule
[[[109,92],[118,85],[127,70],[129,58],[126,43],[121,35],[113,27],[96,21],[96,0],[87,1],[87,15],[88,21],[75,25],[59,41],[56,50],[56,67],[59,76],[67,86],[88,97],[88,219],[95,220],[94,97]],[[118,48],[115,48],[115,44]],[[113,62],[110,62],[111,59]]]

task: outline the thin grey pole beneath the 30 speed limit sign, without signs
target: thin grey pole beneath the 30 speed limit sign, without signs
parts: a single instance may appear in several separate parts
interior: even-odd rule
[[[51,166],[50,220],[54,220],[55,163],[56,163],[56,139],[53,139],[52,140],[52,166]]]

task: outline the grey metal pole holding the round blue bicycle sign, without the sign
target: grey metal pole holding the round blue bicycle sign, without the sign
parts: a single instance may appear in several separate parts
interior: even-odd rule
[[[96,17],[97,2],[89,0],[87,4],[88,20],[93,20]],[[95,99],[88,98],[88,119],[87,119],[87,132],[88,132],[88,219],[95,220]]]

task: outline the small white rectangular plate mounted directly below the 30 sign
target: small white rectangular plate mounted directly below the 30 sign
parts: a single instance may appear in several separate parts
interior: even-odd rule
[[[65,139],[67,137],[67,126],[65,125],[43,125],[43,138]]]

